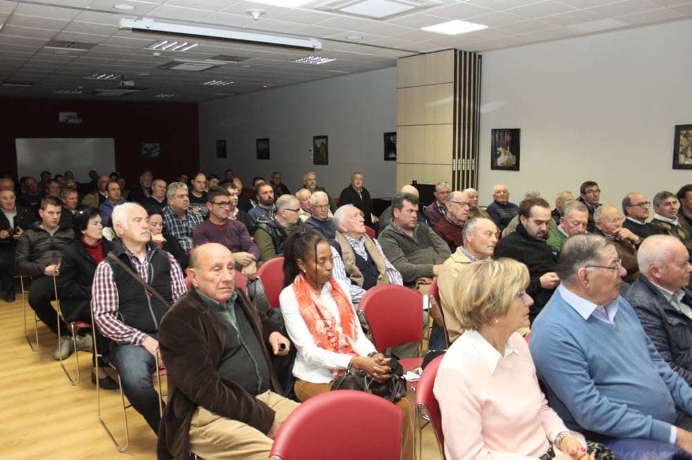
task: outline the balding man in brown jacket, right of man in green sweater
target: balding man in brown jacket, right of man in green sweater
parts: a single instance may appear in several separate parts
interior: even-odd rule
[[[642,239],[622,226],[620,211],[610,204],[603,204],[594,212],[597,235],[605,236],[612,242],[617,251],[617,256],[622,260],[622,266],[627,270],[623,281],[632,284],[639,276],[637,265],[637,247]]]

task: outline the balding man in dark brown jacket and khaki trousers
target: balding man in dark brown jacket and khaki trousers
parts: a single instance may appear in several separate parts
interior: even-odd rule
[[[192,289],[161,320],[161,356],[173,390],[158,430],[159,458],[266,459],[281,423],[298,407],[278,394],[271,363],[291,343],[270,321],[260,323],[235,287],[234,267],[226,247],[197,247],[188,269]]]

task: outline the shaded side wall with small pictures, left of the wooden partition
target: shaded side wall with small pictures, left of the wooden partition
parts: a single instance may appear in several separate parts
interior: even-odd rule
[[[372,197],[391,196],[396,162],[383,160],[383,133],[397,128],[397,70],[386,68],[199,105],[203,171],[235,171],[244,186],[255,175],[282,171],[292,192],[315,171],[318,184],[338,198],[352,171],[365,173]],[[312,164],[312,137],[329,136],[329,165]],[[270,160],[256,160],[255,139],[268,137]],[[225,139],[228,158],[216,157]]]

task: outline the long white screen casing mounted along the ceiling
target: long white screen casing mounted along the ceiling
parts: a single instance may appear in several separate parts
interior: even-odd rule
[[[318,39],[294,37],[291,35],[270,35],[262,32],[249,32],[226,28],[204,27],[186,23],[155,21],[149,18],[120,19],[121,29],[132,29],[136,32],[161,32],[183,37],[203,37],[242,43],[283,46],[303,50],[321,50],[322,42]]]

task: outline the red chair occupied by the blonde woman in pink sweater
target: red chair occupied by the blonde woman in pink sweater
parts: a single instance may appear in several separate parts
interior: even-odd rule
[[[430,423],[432,429],[435,432],[435,439],[437,440],[437,447],[439,448],[440,457],[442,460],[444,457],[444,433],[442,432],[442,416],[439,412],[439,404],[437,399],[435,399],[435,394],[432,394],[432,387],[435,385],[435,377],[437,376],[437,369],[439,368],[439,363],[444,358],[444,355],[437,356],[428,363],[426,369],[421,374],[421,379],[418,381],[418,387],[416,390],[416,405],[414,408],[414,418],[413,423],[415,445],[417,446],[416,452],[418,452],[418,458],[422,459],[422,448],[423,448],[423,429],[426,425]]]

